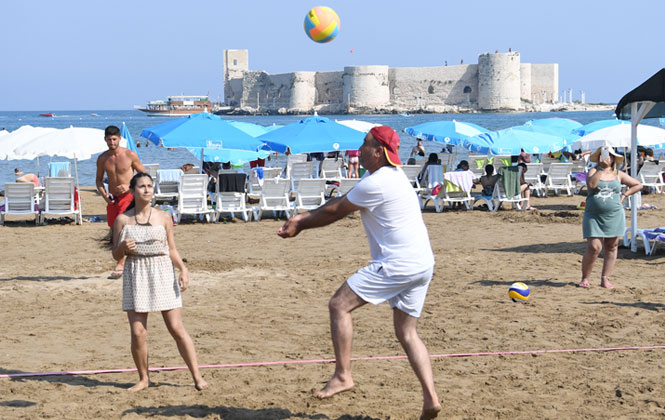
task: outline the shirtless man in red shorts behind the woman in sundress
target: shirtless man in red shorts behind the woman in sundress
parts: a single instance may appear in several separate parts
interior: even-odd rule
[[[113,229],[115,218],[125,212],[132,202],[129,181],[134,171],[145,172],[139,156],[129,149],[120,147],[120,129],[109,125],[104,130],[104,140],[109,150],[97,158],[97,190],[106,201],[106,221]],[[109,193],[104,188],[104,172],[109,179]],[[109,278],[119,279],[125,266],[125,259],[118,261]]]

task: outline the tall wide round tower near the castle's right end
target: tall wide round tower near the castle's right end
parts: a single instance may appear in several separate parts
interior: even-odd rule
[[[520,54],[478,56],[478,107],[488,111],[520,108]]]

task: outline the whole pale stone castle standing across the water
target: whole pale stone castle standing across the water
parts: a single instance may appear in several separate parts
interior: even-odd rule
[[[517,52],[481,54],[478,64],[283,74],[250,70],[248,50],[224,50],[223,60],[225,104],[238,112],[492,112],[558,102],[559,65],[522,63]]]

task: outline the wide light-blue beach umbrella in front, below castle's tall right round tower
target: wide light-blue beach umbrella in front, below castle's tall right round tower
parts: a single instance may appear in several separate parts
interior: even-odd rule
[[[515,156],[522,150],[527,153],[557,152],[566,144],[560,136],[507,128],[470,137],[462,142],[462,146],[476,153]]]

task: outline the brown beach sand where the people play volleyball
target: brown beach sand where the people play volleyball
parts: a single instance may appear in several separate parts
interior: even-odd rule
[[[84,188],[84,217],[104,215]],[[420,334],[432,354],[665,344],[665,252],[619,251],[614,290],[576,287],[585,244],[576,197],[535,199],[537,212],[424,213],[437,265]],[[665,208],[665,197],[644,202]],[[640,225],[663,225],[663,210]],[[282,222],[183,223],[191,270],[184,323],[202,365],[332,358],[327,302],[369,250],[360,218],[283,240]],[[0,372],[132,368],[121,281],[102,246],[105,223],[0,227]],[[526,304],[507,298],[524,281]],[[159,314],[149,317],[150,364],[182,366]],[[403,352],[387,304],[354,312],[355,357]],[[504,355],[433,360],[440,418],[662,418],[665,350]],[[353,364],[356,387],[311,396],[333,365],[311,363],[152,374],[0,379],[2,418],[413,419],[420,388],[406,360]]]

